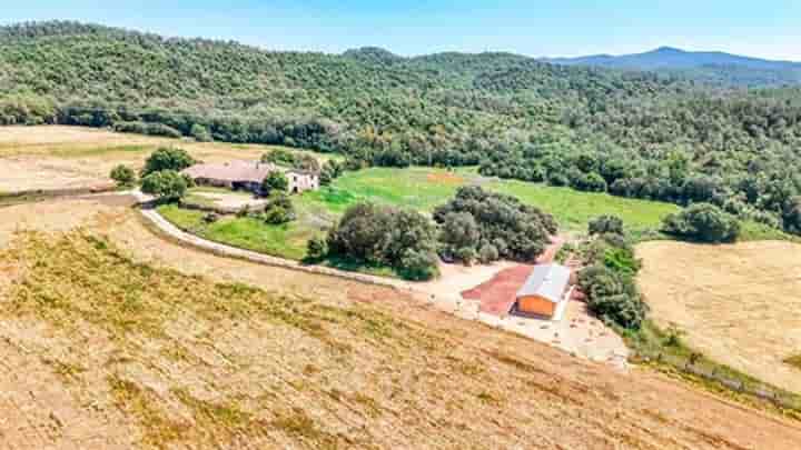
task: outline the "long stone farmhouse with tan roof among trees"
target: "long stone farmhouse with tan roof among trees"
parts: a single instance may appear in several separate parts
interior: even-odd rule
[[[299,193],[319,188],[319,176],[314,172],[287,169],[269,162],[228,161],[215,164],[196,164],[181,173],[189,176],[199,186],[214,186],[233,190],[261,193],[261,182],[274,171],[286,174],[287,191]]]

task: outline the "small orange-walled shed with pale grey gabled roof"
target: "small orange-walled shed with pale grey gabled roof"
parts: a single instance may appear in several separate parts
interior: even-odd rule
[[[524,314],[558,319],[560,307],[570,297],[571,270],[560,264],[534,266],[517,291],[515,310]]]

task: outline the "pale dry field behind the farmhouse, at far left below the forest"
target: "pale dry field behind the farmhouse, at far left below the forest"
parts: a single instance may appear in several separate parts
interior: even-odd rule
[[[85,127],[0,127],[0,192],[95,188],[117,164],[139,169],[160,146],[207,162],[258,159],[269,146],[192,142]]]

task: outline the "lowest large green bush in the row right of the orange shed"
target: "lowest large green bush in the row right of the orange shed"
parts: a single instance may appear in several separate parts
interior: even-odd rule
[[[632,277],[604,266],[578,272],[578,286],[587,298],[587,309],[606,323],[637,330],[647,316],[647,304]]]

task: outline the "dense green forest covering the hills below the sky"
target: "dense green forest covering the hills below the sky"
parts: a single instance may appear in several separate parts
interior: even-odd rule
[[[711,202],[801,223],[801,89],[508,53],[271,52],[75,22],[0,28],[0,123],[281,143],[370,164]]]

